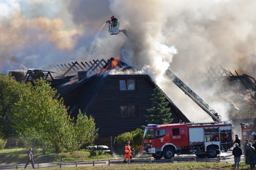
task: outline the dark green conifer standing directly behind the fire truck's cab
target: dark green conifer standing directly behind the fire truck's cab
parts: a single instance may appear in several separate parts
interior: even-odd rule
[[[152,108],[147,109],[151,115],[146,115],[145,117],[149,120],[146,120],[147,123],[150,124],[169,124],[173,119],[169,119],[172,115],[169,113],[171,108],[167,108],[168,103],[165,101],[165,97],[162,93],[162,90],[159,87],[154,89],[154,94],[152,94],[154,98],[151,98]],[[145,127],[145,126],[144,126]]]

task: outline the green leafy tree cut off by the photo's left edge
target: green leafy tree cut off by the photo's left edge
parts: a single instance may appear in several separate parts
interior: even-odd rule
[[[16,103],[24,88],[24,83],[17,82],[10,75],[0,74],[0,138],[15,135],[10,117],[17,108]]]

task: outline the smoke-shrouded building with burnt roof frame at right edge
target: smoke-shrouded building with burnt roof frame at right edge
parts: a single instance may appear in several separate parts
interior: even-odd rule
[[[240,123],[253,123],[256,117],[255,87],[253,77],[224,69],[221,65],[212,65],[208,70],[206,86],[216,91],[215,100],[222,100],[227,119],[238,126]]]

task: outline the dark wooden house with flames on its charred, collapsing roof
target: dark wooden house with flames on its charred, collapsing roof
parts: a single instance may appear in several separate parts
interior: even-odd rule
[[[145,115],[150,114],[147,109],[152,108],[151,94],[157,87],[151,77],[119,59],[89,63],[80,65],[74,62],[69,68],[67,65],[57,66],[55,68],[66,72],[55,79],[49,79],[54,72],[29,70],[23,80],[32,81],[35,77],[49,79],[65,105],[69,106],[71,117],[76,119],[79,109],[94,117],[100,137],[117,136],[146,125]],[[66,76],[71,70],[77,74]],[[190,122],[169,97],[164,96],[171,108],[172,122]]]

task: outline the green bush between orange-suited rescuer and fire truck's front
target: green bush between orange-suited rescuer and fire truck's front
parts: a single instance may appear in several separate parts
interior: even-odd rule
[[[128,140],[130,141],[130,146],[133,146],[135,150],[138,151],[143,144],[142,129],[136,129],[135,131],[120,134],[115,137],[114,143],[117,143],[119,147],[124,147]]]

